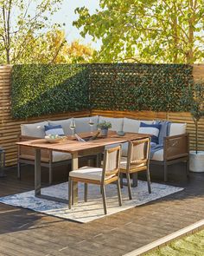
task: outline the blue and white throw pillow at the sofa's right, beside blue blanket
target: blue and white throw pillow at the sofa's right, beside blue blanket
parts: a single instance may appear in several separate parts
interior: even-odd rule
[[[140,122],[139,134],[152,135],[151,142],[158,144],[159,131],[161,125],[160,124],[147,124],[144,122]]]

